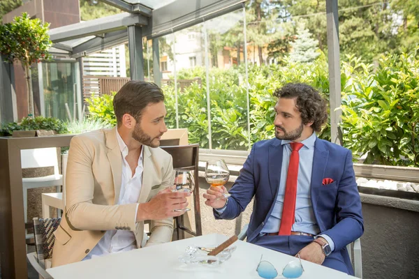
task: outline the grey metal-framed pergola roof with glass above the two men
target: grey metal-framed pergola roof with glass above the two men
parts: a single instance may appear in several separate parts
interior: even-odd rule
[[[246,0],[99,0],[124,11],[117,15],[51,29],[50,53],[79,58],[128,42],[128,27],[157,38],[242,8]]]

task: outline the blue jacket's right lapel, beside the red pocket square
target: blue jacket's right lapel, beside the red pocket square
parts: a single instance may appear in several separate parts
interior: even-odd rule
[[[326,149],[322,140],[316,138],[314,143],[313,170],[311,171],[311,204],[313,205],[314,215],[316,216],[316,199],[318,190],[322,186],[323,177],[325,177],[326,165],[328,165],[329,151]],[[317,216],[316,216],[317,219]],[[318,223],[318,222],[317,222]]]

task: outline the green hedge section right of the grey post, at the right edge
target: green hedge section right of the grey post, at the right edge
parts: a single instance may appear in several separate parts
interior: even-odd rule
[[[349,57],[342,96],[344,145],[365,163],[419,167],[419,55],[382,55],[378,66]]]

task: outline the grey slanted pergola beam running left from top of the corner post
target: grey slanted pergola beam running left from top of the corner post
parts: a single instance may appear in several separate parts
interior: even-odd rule
[[[126,29],[132,25],[147,25],[148,18],[138,14],[121,13],[109,17],[98,18],[64,27],[54,28],[49,31],[52,43],[60,43],[66,40],[96,36],[103,33]]]

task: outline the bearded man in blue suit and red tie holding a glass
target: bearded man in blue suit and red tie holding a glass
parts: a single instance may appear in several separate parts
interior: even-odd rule
[[[274,95],[276,138],[253,144],[228,199],[212,187],[205,204],[234,219],[254,196],[247,241],[353,275],[346,245],[364,226],[351,151],[316,137],[328,119],[316,89],[286,84]]]

